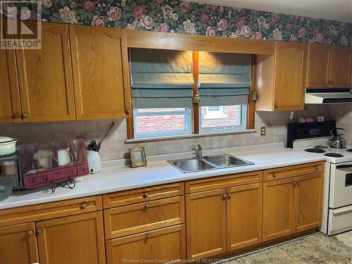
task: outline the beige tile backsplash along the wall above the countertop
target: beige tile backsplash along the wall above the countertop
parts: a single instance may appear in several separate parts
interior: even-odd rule
[[[180,153],[189,151],[192,142],[202,144],[204,149],[218,149],[223,147],[247,146],[273,142],[286,142],[287,124],[297,122],[298,118],[325,116],[325,120],[337,120],[339,127],[347,132],[348,145],[352,145],[352,104],[331,106],[307,106],[304,111],[294,112],[293,119],[290,113],[257,112],[255,128],[266,127],[266,135],[260,132],[251,134],[224,134],[184,139],[165,139],[154,142],[126,143],[126,120],[94,120],[85,122],[53,122],[36,124],[0,125],[0,135],[15,137],[18,146],[33,142],[51,142],[63,139],[84,137],[85,139],[100,139],[108,130],[108,126],[115,121],[115,127],[106,137],[101,146],[103,161],[127,158],[128,149],[133,146],[144,146],[147,155]]]

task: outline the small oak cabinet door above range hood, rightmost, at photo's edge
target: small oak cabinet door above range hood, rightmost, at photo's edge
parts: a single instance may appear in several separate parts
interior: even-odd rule
[[[334,46],[332,48],[331,87],[351,87],[351,71],[351,48],[348,46]]]

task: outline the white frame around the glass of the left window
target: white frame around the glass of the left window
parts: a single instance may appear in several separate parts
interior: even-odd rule
[[[180,107],[183,108],[183,107]],[[133,108],[133,129],[134,129],[134,139],[148,139],[153,137],[170,137],[179,135],[189,135],[192,134],[192,111],[191,108],[184,108],[184,111],[164,111],[164,112],[146,112],[139,113],[139,108]],[[153,108],[154,109],[154,108]],[[159,108],[162,109],[162,108]],[[137,117],[140,116],[153,116],[153,115],[184,115],[184,127],[185,130],[175,130],[172,132],[148,132],[148,133],[137,133]]]

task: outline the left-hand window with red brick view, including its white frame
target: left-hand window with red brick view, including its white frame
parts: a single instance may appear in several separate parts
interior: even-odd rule
[[[134,137],[191,134],[191,108],[134,109]]]

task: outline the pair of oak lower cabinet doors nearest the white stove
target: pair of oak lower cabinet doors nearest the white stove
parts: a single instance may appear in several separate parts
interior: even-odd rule
[[[322,172],[265,182],[263,241],[319,227]]]

